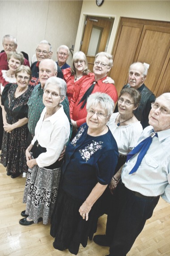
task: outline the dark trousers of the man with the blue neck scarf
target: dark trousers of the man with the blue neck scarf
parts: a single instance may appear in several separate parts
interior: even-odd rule
[[[112,197],[106,223],[106,236],[111,242],[110,256],[127,255],[146,220],[151,218],[159,197],[137,197],[119,182]]]

